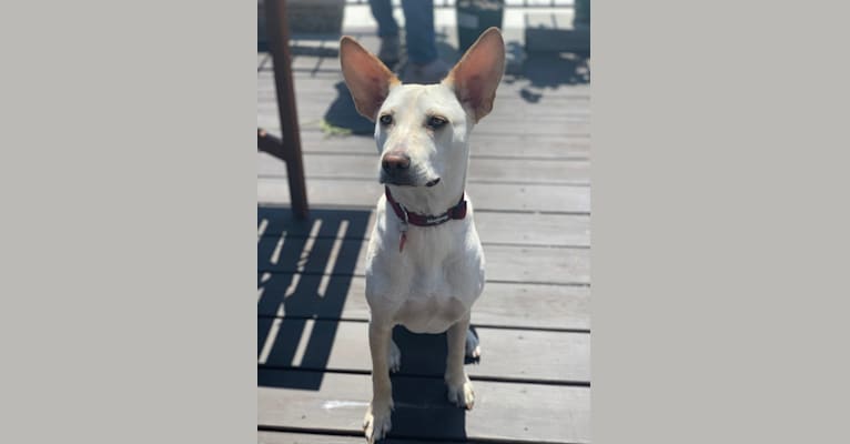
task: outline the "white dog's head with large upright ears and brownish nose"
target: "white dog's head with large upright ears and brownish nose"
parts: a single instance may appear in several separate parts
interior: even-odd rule
[[[496,28],[438,84],[402,84],[350,37],[340,42],[340,61],[357,111],[375,122],[382,183],[434,186],[465,179],[469,131],[493,109],[505,70],[505,43]]]

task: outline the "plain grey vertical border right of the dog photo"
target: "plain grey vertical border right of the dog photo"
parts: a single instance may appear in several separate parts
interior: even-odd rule
[[[596,443],[848,442],[847,17],[594,2]]]

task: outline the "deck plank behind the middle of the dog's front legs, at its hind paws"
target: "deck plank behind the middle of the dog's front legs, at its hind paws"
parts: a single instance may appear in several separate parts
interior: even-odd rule
[[[307,352],[294,354],[306,323],[311,323]],[[282,325],[286,325],[282,327]],[[273,327],[274,326],[274,327]],[[473,379],[590,383],[590,334],[475,327],[482,357],[466,371]],[[398,375],[442,377],[446,369],[446,335],[414,334],[396,326],[393,339],[402,351]],[[351,321],[257,320],[261,367],[371,372],[368,324]],[[316,350],[311,345],[316,344]],[[330,346],[330,350],[327,350]],[[320,350],[324,349],[324,350]]]

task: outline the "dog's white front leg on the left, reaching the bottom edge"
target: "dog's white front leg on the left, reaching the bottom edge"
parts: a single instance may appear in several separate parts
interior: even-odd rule
[[[368,325],[368,346],[372,353],[372,403],[366,411],[363,428],[368,444],[383,438],[389,432],[393,410],[393,387],[389,382],[389,341],[393,325],[375,322]]]

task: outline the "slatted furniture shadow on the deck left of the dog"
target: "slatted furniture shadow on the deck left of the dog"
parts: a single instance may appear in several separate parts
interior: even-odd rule
[[[327,367],[368,216],[368,211],[313,209],[310,219],[298,221],[289,208],[257,208],[257,312],[274,313],[257,320],[261,365]],[[318,390],[323,375],[260,377],[259,384]]]

